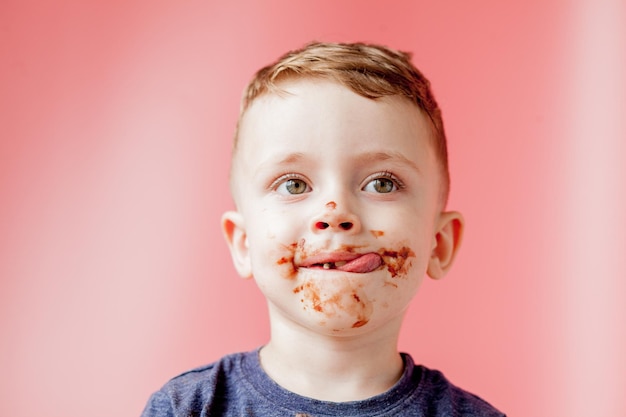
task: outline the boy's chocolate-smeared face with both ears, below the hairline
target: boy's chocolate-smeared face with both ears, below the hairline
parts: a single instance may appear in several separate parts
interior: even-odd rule
[[[404,98],[281,87],[241,122],[238,212],[223,218],[235,265],[276,319],[331,335],[396,322],[425,273],[445,273],[461,232],[460,216],[440,211],[428,122]]]

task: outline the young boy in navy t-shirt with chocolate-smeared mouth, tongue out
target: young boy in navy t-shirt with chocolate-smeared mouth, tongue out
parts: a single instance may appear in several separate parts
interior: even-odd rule
[[[428,274],[463,229],[444,211],[441,112],[407,54],[313,43],[261,69],[222,226],[267,299],[270,341],[184,373],[143,416],[502,416],[397,350]]]

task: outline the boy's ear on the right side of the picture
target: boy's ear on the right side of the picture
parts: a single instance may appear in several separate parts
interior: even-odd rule
[[[463,235],[463,216],[456,211],[442,212],[437,220],[433,250],[427,273],[433,279],[443,278],[452,266]]]

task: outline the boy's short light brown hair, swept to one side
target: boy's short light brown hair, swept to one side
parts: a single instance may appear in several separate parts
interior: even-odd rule
[[[281,93],[280,82],[294,78],[332,80],[372,100],[401,96],[417,105],[430,120],[433,148],[441,168],[441,195],[445,205],[450,174],[441,110],[430,82],[411,63],[410,53],[365,43],[322,42],[290,51],[273,64],[261,68],[250,81],[241,101],[238,126],[256,98],[268,93]],[[237,147],[238,130],[233,150]]]

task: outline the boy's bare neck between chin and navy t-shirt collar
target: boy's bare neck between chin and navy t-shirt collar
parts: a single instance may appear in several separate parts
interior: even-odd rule
[[[402,375],[397,350],[402,317],[363,335],[341,337],[283,319],[273,317],[272,338],[260,357],[265,372],[289,391],[323,401],[358,401],[386,392]]]

